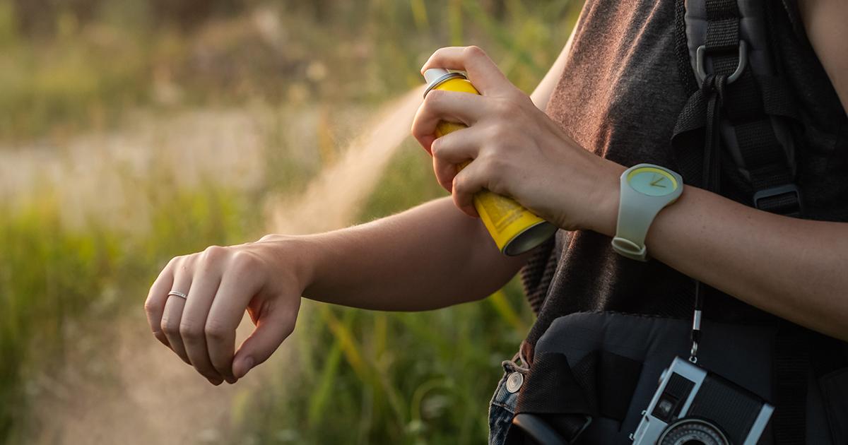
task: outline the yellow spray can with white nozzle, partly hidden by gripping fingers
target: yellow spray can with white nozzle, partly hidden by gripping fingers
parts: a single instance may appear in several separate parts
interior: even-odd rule
[[[459,72],[431,68],[424,71],[424,79],[427,81],[425,97],[431,90],[480,94],[468,81],[466,75]],[[442,121],[436,126],[436,137],[463,128],[466,128],[466,125]],[[470,162],[460,164],[460,170]],[[474,195],[474,208],[480,214],[483,225],[486,226],[500,252],[506,255],[519,255],[535,248],[550,238],[557,229],[555,225],[524,209],[514,199],[488,190]]]

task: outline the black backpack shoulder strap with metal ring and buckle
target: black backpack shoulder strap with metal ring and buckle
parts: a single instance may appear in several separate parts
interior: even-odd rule
[[[704,159],[712,159],[724,177],[708,188],[757,209],[800,217],[792,128],[797,115],[775,63],[779,54],[769,25],[774,11],[764,3],[678,0],[678,70],[683,84],[695,90],[678,118],[672,147],[684,180],[706,186]],[[717,98],[722,116],[714,129],[715,153],[705,153],[711,148],[702,151],[700,141],[710,130],[708,103],[720,89],[717,81],[723,86]],[[722,152],[728,161],[720,161]]]

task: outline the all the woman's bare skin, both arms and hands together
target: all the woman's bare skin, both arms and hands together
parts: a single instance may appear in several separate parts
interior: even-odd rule
[[[840,42],[848,32],[841,26],[848,3],[800,6],[845,106],[848,54]],[[541,111],[570,44],[531,97],[481,49],[438,50],[422,71],[466,70],[482,93],[430,92],[413,124],[452,196],[340,231],[265,236],[172,259],[145,303],[153,336],[219,385],[271,356],[293,331],[301,296],[379,310],[438,309],[485,298],[527,255],[508,258],[494,248],[471,206],[483,188],[516,198],[563,229],[613,236],[625,167],[580,147]],[[436,140],[439,120],[469,127]],[[456,164],[468,159],[457,174]],[[848,340],[848,274],[842,273],[848,270],[848,224],[767,214],[687,186],[656,217],[646,246],[653,258],[746,303]],[[167,297],[171,289],[188,298]],[[256,328],[236,350],[244,310]]]

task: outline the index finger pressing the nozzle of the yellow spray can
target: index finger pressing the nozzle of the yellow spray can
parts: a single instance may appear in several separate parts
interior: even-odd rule
[[[468,80],[483,95],[515,89],[498,66],[479,47],[444,47],[432,53],[421,73],[431,68],[464,70]],[[428,95],[429,96],[429,95]]]

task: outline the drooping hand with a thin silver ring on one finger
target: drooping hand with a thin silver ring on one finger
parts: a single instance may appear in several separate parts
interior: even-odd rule
[[[153,336],[213,385],[235,383],[294,330],[304,281],[295,264],[275,253],[291,249],[286,242],[265,236],[171,259],[144,304]],[[236,352],[245,310],[256,328]]]

